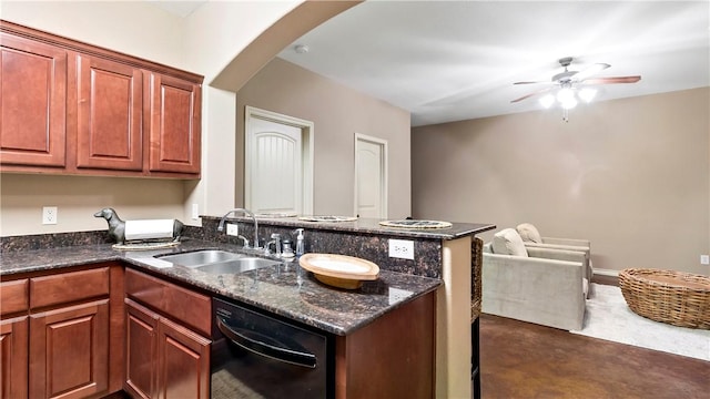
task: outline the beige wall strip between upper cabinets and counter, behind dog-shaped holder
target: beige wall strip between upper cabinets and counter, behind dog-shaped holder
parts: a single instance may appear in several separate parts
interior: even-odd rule
[[[105,229],[93,217],[114,207],[126,219],[181,218],[181,182],[84,176],[2,174],[0,236]],[[57,206],[55,225],[42,225],[42,207]]]

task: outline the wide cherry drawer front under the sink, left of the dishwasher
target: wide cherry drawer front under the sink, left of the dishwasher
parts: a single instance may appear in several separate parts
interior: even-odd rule
[[[210,336],[210,297],[133,269],[125,270],[125,294],[169,318]]]

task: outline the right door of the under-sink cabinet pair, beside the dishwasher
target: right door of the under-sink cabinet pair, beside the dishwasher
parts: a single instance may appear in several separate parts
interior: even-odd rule
[[[161,318],[158,348],[158,398],[210,398],[209,339]]]

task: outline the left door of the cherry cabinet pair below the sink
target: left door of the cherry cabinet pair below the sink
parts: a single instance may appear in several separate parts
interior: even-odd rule
[[[158,395],[158,315],[125,299],[125,383],[134,398]]]

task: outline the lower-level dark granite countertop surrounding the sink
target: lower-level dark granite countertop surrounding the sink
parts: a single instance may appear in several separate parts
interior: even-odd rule
[[[185,239],[175,248],[156,250],[114,250],[110,244],[20,250],[2,254],[0,276],[7,278],[20,273],[122,260],[136,269],[150,270],[336,335],[351,334],[442,285],[440,279],[381,268],[376,282],[365,282],[356,290],[343,290],[318,283],[296,262],[282,262],[277,266],[241,274],[216,275],[153,258],[159,254],[204,248],[243,252],[234,245],[199,239]]]

